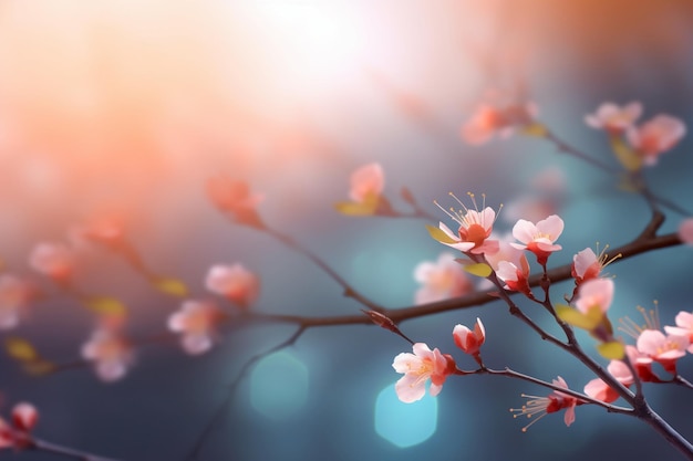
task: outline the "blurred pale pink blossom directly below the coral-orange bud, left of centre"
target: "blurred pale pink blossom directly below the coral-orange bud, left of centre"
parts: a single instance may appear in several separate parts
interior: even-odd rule
[[[259,295],[260,280],[240,263],[215,264],[207,272],[205,286],[241,307],[248,307]]]

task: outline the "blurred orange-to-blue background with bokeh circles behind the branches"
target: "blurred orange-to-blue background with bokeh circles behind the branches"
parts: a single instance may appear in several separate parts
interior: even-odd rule
[[[650,217],[618,178],[538,138],[470,146],[461,127],[489,92],[519,92],[555,133],[616,166],[606,136],[585,115],[606,101],[641,101],[643,118],[668,113],[690,126],[692,57],[693,6],[685,0],[2,0],[0,259],[45,295],[0,337],[27,338],[59,364],[79,359],[93,315],[33,271],[28,256],[38,242],[68,242],[71,226],[105,209],[125,216],[147,264],[184,280],[192,297],[213,297],[204,287],[211,264],[241,262],[261,277],[252,310],[358,313],[362,306],[306,258],[214,208],[205,182],[219,172],[248,181],[265,197],[259,212],[269,226],[387,307],[414,303],[414,269],[445,248],[425,231],[435,221],[335,212],[351,172],[372,161],[383,166],[384,193],[396,209],[407,210],[399,198],[407,187],[441,219],[434,199],[485,192],[487,205],[505,203],[500,231],[537,207],[557,212],[566,221],[563,251],[550,265],[597,241],[618,247]],[[685,137],[645,171],[652,190],[689,210],[692,147]],[[537,177],[558,178],[559,187]],[[663,231],[682,218],[668,210]],[[617,275],[613,318],[640,321],[635,306],[658,300],[662,323],[673,324],[692,308],[691,269],[690,248],[609,266]],[[179,306],[103,249],[83,249],[75,279],[127,304],[133,337],[164,333]],[[571,290],[558,284],[554,293]],[[592,378],[500,304],[408,321],[402,329],[472,368],[455,353],[451,331],[477,316],[488,366],[546,380],[560,375],[578,390]],[[184,460],[244,364],[293,329],[230,325],[196,357],[175,343],[143,346],[112,384],[84,366],[33,377],[1,356],[1,410],[7,417],[14,402],[33,402],[37,436],[59,444],[122,460]],[[592,339],[581,338],[591,349]],[[528,421],[508,408],[521,406],[520,392],[544,390],[511,380],[449,379],[437,398],[401,404],[391,364],[408,348],[373,326],[309,329],[245,375],[199,459],[680,459],[643,423],[587,406],[570,428],[560,413],[523,433]],[[690,358],[681,373],[693,378]],[[674,428],[693,437],[690,391],[647,391]],[[55,458],[10,453],[0,459]]]

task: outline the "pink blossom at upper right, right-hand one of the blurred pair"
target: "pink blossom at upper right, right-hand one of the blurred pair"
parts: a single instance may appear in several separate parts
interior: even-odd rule
[[[685,135],[685,124],[671,115],[659,114],[627,133],[630,145],[642,156],[645,165],[655,165],[658,157],[674,147]]]

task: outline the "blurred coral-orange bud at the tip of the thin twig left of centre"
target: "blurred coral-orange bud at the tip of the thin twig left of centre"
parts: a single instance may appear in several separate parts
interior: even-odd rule
[[[219,211],[230,214],[239,223],[263,228],[257,213],[257,206],[263,197],[252,193],[246,181],[215,176],[207,181],[207,196]]]

